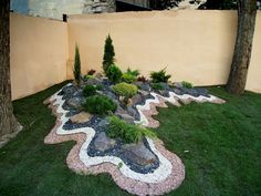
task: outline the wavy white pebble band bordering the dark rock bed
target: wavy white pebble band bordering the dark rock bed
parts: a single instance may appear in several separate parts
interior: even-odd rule
[[[72,85],[71,83],[67,84],[67,85]],[[74,135],[74,134],[80,134],[80,133],[83,133],[85,134],[85,141],[82,143],[82,146],[80,147],[80,151],[79,151],[79,158],[81,159],[81,162],[86,166],[86,168],[91,168],[91,167],[96,167],[101,164],[106,164],[106,163],[111,163],[115,166],[118,166],[119,164],[122,164],[121,168],[118,168],[118,171],[124,175],[126,176],[127,178],[130,178],[133,180],[137,180],[137,182],[140,182],[140,183],[145,183],[145,184],[157,184],[158,186],[161,186],[161,184],[164,184],[164,182],[169,182],[169,178],[171,178],[170,176],[174,176],[175,174],[173,174],[173,172],[175,171],[173,168],[173,159],[171,159],[171,163],[169,162],[169,159],[167,159],[156,147],[155,147],[155,144],[154,142],[156,141],[153,141],[148,137],[146,137],[148,144],[149,144],[149,147],[152,148],[152,151],[158,156],[158,159],[159,159],[159,167],[156,168],[153,173],[148,173],[148,174],[140,174],[140,173],[136,173],[134,171],[132,171],[121,158],[118,157],[115,157],[115,156],[103,156],[103,157],[91,157],[87,155],[87,147],[90,145],[90,143],[92,142],[94,135],[95,135],[95,130],[93,130],[92,127],[83,127],[83,128],[75,128],[75,130],[71,130],[71,131],[65,131],[63,130],[63,125],[65,122],[67,122],[69,117],[65,116],[65,114],[69,112],[69,111],[65,111],[62,109],[62,105],[63,103],[65,102],[65,100],[62,100],[62,96],[59,95],[59,93],[61,92],[61,90],[59,92],[56,92],[54,95],[52,95],[49,100],[48,100],[48,103],[52,103],[52,106],[55,107],[53,110],[54,113],[56,113],[59,115],[59,124],[56,124],[55,126],[55,134],[56,135]],[[170,96],[169,97],[165,97],[165,96],[161,96],[161,95],[158,95],[156,93],[150,93],[154,99],[148,99],[146,100],[145,104],[144,105],[137,105],[137,110],[139,112],[139,115],[140,115],[140,121],[136,121],[135,123],[136,124],[142,124],[143,126],[147,126],[149,125],[149,121],[147,120],[147,117],[143,114],[143,111],[149,111],[150,110],[150,104],[155,104],[155,105],[159,105],[160,106],[160,103],[164,101],[164,102],[169,102],[176,106],[180,106],[180,104],[178,103],[177,100],[180,100],[180,101],[185,101],[186,102],[190,102],[190,101],[196,101],[196,102],[213,102],[213,103],[223,103],[225,101],[216,97],[216,96],[210,96],[210,97],[206,97],[206,96],[198,96],[198,97],[195,97],[195,96],[191,96],[191,95],[177,95],[176,93],[173,93],[170,92]],[[161,100],[161,101],[160,101]],[[50,133],[50,136],[54,136]],[[48,136],[45,137],[48,138]],[[48,138],[50,140],[50,138]],[[46,141],[48,141],[46,140]],[[55,140],[54,140],[55,141]],[[50,142],[48,142],[50,143]],[[158,145],[158,144],[157,144]],[[161,148],[161,147],[160,147]],[[165,152],[165,149],[161,152]],[[170,153],[171,154],[171,153]],[[175,155],[175,154],[173,154]],[[168,156],[169,157],[169,156]],[[180,161],[180,158],[177,157],[177,155],[175,155],[175,164],[177,163],[178,165],[177,168],[181,169],[181,171],[177,171],[177,177],[176,176],[176,182],[173,182],[173,188],[177,188],[177,186],[179,184],[181,184],[181,182],[184,180],[185,178],[185,168],[184,168],[184,165]],[[106,167],[105,167],[106,168]],[[113,178],[115,179],[115,177],[113,176]],[[126,178],[126,179],[127,179]],[[118,182],[116,182],[118,184]],[[121,186],[121,184],[118,184]],[[122,188],[124,188],[123,186],[121,186]],[[166,188],[166,190],[170,190],[173,189],[171,187],[168,187]],[[129,193],[133,193],[133,194],[137,194],[137,190],[138,188],[134,188],[134,189],[129,189],[127,187],[125,187],[124,189],[128,190]],[[145,188],[144,192],[146,192],[146,189],[152,189],[152,188]],[[165,190],[158,190],[158,193],[164,193]],[[142,193],[142,194],[138,194],[138,195],[147,195],[146,193]],[[149,194],[149,195],[154,195],[154,194]],[[156,195],[159,195],[159,194],[156,194]]]

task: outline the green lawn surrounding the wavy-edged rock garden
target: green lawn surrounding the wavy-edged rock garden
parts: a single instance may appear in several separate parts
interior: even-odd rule
[[[74,142],[44,145],[55,117],[42,104],[63,84],[13,102],[24,130],[0,148],[1,196],[124,196],[106,175],[82,176],[65,163]],[[261,194],[261,94],[227,94],[228,103],[159,109],[157,128],[166,147],[185,163],[186,179],[171,196],[258,196]],[[188,151],[188,152],[187,152]]]

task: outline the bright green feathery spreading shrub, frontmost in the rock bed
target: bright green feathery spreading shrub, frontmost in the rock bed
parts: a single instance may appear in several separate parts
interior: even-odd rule
[[[156,137],[156,134],[145,127],[128,124],[117,116],[109,117],[108,136],[122,138],[125,143],[138,143],[144,136]]]

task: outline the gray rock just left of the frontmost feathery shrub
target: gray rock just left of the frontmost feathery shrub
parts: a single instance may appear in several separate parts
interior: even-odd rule
[[[94,141],[94,146],[96,149],[104,152],[114,147],[116,144],[115,140],[107,137],[105,132],[98,133],[97,137]]]

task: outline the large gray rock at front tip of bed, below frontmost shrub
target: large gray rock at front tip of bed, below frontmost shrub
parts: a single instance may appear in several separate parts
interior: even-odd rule
[[[146,166],[154,163],[157,157],[143,143],[123,145],[123,153],[135,163]]]

